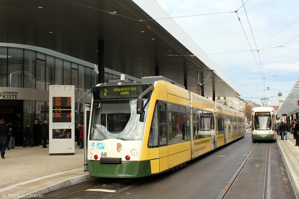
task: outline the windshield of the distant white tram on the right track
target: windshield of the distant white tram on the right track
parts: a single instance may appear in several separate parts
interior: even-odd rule
[[[254,129],[255,130],[270,130],[272,120],[270,112],[255,112],[254,114]]]

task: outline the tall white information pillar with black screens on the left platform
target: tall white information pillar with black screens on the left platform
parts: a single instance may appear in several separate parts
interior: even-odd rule
[[[49,86],[49,155],[75,154],[75,86]]]

